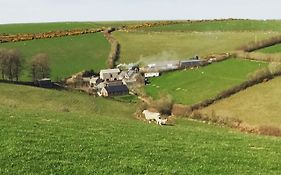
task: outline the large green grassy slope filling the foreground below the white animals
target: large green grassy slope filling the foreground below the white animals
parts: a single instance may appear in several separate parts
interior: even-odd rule
[[[0,174],[281,172],[280,138],[186,119],[159,127],[134,119],[134,104],[80,93],[0,84],[0,98]]]

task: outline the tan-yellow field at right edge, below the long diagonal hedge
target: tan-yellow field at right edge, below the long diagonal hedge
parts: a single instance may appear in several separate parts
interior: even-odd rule
[[[204,109],[225,117],[239,118],[251,125],[281,128],[281,78],[248,88]]]

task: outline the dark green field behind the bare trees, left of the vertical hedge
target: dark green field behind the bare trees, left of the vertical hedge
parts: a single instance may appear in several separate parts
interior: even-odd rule
[[[106,68],[110,44],[102,33],[69,36],[62,38],[23,41],[0,44],[4,48],[16,48],[26,60],[26,70],[35,54],[46,53],[51,64],[53,80],[65,78],[73,73],[86,69],[99,71]],[[28,80],[29,72],[25,71],[22,79]]]

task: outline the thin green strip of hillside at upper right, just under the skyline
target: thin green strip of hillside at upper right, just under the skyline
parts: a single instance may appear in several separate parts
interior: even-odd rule
[[[146,31],[281,31],[281,20],[225,20],[186,22],[145,28]]]

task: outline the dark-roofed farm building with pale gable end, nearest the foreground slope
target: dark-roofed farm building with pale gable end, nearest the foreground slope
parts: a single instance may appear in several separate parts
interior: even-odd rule
[[[129,94],[129,89],[126,85],[108,85],[100,91],[100,95],[104,97],[126,95]]]

